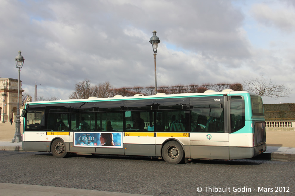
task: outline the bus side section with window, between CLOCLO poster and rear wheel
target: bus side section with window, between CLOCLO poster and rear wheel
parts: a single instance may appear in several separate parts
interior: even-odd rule
[[[145,109],[150,110],[125,111],[125,155],[156,156],[154,112]]]

